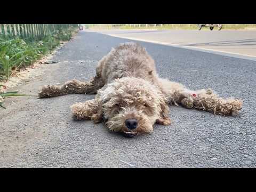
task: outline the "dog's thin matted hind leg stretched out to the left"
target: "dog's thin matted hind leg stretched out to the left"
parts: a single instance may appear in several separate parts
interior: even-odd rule
[[[90,81],[80,82],[76,79],[68,81],[62,86],[46,85],[38,93],[39,98],[57,97],[65,94],[96,94],[103,86],[100,77],[93,77]]]

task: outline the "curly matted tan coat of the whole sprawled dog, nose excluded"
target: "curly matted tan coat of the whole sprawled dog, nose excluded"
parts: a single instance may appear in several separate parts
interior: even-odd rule
[[[103,57],[90,81],[74,79],[62,86],[44,86],[38,95],[46,98],[69,93],[97,93],[94,99],[71,106],[75,119],[105,122],[111,131],[134,134],[152,132],[155,123],[169,125],[169,104],[217,115],[233,115],[243,104],[240,99],[220,98],[211,89],[188,90],[159,78],[154,60],[144,47],[133,42],[120,44]],[[127,119],[136,120],[135,129],[127,126]]]

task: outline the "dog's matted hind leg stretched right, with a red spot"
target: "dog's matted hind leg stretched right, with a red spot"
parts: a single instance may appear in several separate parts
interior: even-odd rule
[[[211,89],[189,90],[182,84],[161,79],[166,92],[167,102],[182,105],[186,108],[196,108],[209,111],[216,115],[234,115],[243,105],[241,99],[221,98]]]

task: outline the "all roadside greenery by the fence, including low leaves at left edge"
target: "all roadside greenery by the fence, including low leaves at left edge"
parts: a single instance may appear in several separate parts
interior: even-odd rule
[[[45,29],[42,28],[44,31]],[[3,83],[18,73],[20,69],[33,64],[47,53],[51,53],[62,42],[69,41],[77,31],[78,28],[76,27],[63,27],[58,30],[49,30],[49,33],[41,36],[28,35],[27,33],[26,37],[15,36],[11,33],[0,33],[0,108],[5,108],[3,103],[7,97],[28,95],[19,94],[17,91],[7,92],[7,87]],[[37,31],[37,34],[39,33],[40,31]]]

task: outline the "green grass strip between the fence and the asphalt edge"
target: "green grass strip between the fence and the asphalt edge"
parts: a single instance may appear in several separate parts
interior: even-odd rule
[[[0,81],[10,78],[13,71],[22,68],[42,58],[60,44],[68,41],[73,30],[60,30],[52,33],[41,41],[32,38],[0,36]]]

